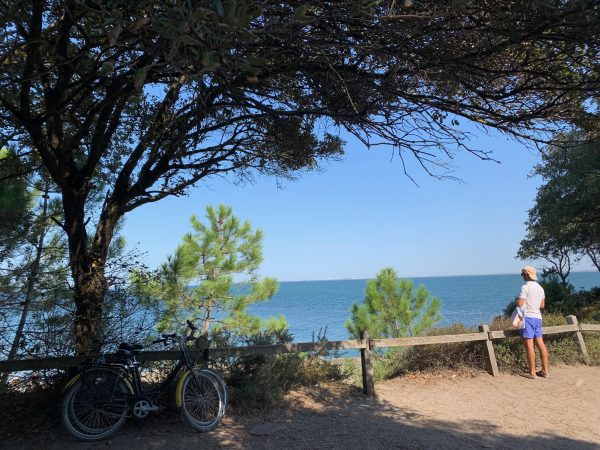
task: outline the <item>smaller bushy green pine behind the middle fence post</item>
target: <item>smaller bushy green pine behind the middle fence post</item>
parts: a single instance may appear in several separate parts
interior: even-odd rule
[[[356,338],[361,331],[374,338],[418,336],[441,319],[440,301],[425,286],[415,292],[412,281],[398,279],[389,267],[367,282],[364,303],[350,311],[346,328]]]

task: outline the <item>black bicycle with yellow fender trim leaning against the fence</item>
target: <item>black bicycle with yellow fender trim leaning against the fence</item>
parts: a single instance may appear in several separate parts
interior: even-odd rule
[[[163,334],[152,344],[177,343],[181,356],[167,378],[157,387],[144,391],[140,362],[136,355],[143,345],[122,343],[114,359],[106,356],[85,361],[79,374],[64,389],[61,419],[66,430],[82,441],[106,439],[116,433],[128,417],[145,418],[159,411],[156,398],[177,379],[175,400],[183,419],[200,432],[214,430],[225,415],[227,386],[221,375],[207,367],[198,367],[191,358],[186,340],[195,340],[196,328],[183,338]],[[204,359],[207,359],[205,351]]]

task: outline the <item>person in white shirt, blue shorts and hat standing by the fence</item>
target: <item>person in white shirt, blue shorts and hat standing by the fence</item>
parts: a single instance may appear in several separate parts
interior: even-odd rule
[[[542,313],[546,302],[544,288],[537,282],[535,268],[525,266],[521,269],[521,276],[525,284],[521,287],[521,292],[517,297],[517,306],[525,307],[525,326],[521,329],[521,337],[525,343],[527,352],[527,363],[529,364],[529,373],[525,374],[527,378],[533,380],[536,377],[548,378],[548,350],[542,337]],[[535,345],[540,352],[542,360],[542,370],[535,370]]]

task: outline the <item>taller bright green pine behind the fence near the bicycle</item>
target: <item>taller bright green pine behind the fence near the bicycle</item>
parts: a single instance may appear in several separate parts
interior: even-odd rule
[[[135,276],[139,293],[163,307],[159,331],[181,330],[186,320],[199,322],[203,334],[248,336],[287,329],[282,317],[263,321],[247,312],[249,305],[271,298],[278,287],[274,278],[257,276],[262,231],[241,223],[224,205],[208,206],[206,219],[204,224],[191,217],[193,232],[183,237],[155,277]]]

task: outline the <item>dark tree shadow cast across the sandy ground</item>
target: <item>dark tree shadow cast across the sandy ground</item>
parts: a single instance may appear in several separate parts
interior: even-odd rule
[[[13,436],[0,445],[9,449],[402,449],[402,448],[527,448],[600,449],[594,442],[545,434],[530,437],[508,435],[482,418],[472,422],[432,420],[382,399],[351,392],[345,396],[322,395],[302,401],[300,395],[286,408],[259,416],[226,417],[215,431],[196,433],[175,413],[162,413],[143,422],[130,420],[107,441],[81,443],[60,426],[50,433]],[[485,416],[485,405],[481,406]],[[268,423],[272,433],[256,433]],[[261,428],[261,427],[259,427]],[[263,426],[263,429],[265,427]]]

